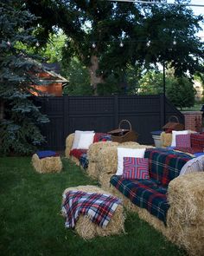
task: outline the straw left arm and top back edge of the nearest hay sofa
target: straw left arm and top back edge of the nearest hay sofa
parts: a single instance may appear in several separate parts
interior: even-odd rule
[[[137,142],[124,142],[112,148],[102,148],[99,154],[98,169],[99,183],[101,187],[110,191],[110,179],[116,174],[118,167],[118,150],[117,148],[154,148],[152,146],[140,145]]]

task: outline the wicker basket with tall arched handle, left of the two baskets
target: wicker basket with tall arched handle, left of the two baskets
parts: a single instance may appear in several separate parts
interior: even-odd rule
[[[129,129],[121,128],[122,123],[128,123]],[[131,129],[131,122],[128,120],[121,120],[117,129],[108,132],[112,135],[112,141],[123,143],[126,141],[137,141],[138,134]]]

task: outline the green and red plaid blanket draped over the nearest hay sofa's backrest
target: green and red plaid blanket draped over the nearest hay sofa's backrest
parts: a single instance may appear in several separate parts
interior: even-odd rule
[[[144,158],[149,159],[150,178],[161,182],[163,186],[168,186],[192,156],[165,148],[147,148]]]

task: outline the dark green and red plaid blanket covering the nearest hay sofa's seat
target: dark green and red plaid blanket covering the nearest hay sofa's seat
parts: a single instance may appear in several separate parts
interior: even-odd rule
[[[117,175],[113,175],[110,182],[133,204],[145,208],[166,224],[169,209],[167,187],[160,186],[157,181],[153,180],[125,180]]]

